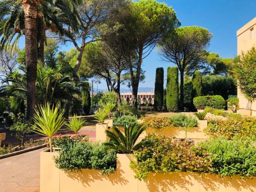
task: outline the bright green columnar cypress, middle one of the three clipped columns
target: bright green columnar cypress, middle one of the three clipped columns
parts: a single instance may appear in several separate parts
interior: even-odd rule
[[[168,111],[179,109],[179,77],[178,67],[168,67],[166,85],[166,106]]]

